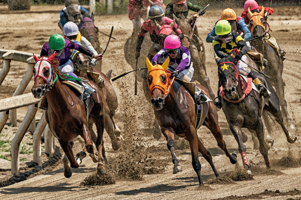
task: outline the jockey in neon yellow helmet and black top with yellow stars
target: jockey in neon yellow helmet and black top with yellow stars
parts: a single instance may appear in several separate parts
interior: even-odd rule
[[[238,61],[238,72],[244,76],[251,77],[253,83],[257,86],[259,94],[265,98],[269,98],[268,90],[261,84],[257,76],[250,70],[248,65],[248,58],[245,55],[249,48],[244,39],[236,32],[231,30],[231,24],[227,20],[220,20],[216,23],[215,33],[216,39],[213,40],[214,52],[219,58],[227,57],[233,49],[238,49],[239,52],[235,55],[234,63]],[[220,87],[219,82],[219,87]],[[214,102],[219,109],[222,107],[221,97],[219,101]]]

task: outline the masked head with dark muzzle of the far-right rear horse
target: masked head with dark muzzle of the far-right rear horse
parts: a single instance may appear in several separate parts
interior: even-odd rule
[[[269,31],[266,31],[266,25],[268,23],[265,21],[263,14],[263,6],[259,13],[252,13],[250,8],[248,8],[248,14],[250,17],[250,31],[253,37],[265,37],[265,34]],[[268,25],[269,26],[269,25]]]

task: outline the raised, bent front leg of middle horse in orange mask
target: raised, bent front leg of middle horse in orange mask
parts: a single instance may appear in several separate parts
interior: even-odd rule
[[[183,169],[179,165],[179,161],[178,161],[177,157],[175,156],[175,133],[171,132],[173,130],[168,130],[167,128],[164,128],[164,127],[161,128],[161,131],[162,131],[164,137],[166,138],[167,148],[171,153],[172,163],[173,163],[173,172],[172,172],[172,174],[182,172]]]

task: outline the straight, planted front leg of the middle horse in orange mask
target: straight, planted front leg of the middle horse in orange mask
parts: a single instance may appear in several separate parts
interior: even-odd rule
[[[197,173],[197,178],[199,179],[199,184],[201,186],[203,186],[204,184],[203,184],[202,177],[201,177],[202,166],[201,166],[201,163],[199,160],[199,146],[198,146],[198,141],[197,141],[198,140],[197,133],[192,124],[190,125],[188,131],[189,131],[189,133],[187,133],[187,134],[185,133],[185,136],[189,142],[189,146],[190,146],[190,150],[191,150],[192,167],[193,167],[194,171]],[[204,149],[206,150],[206,148],[204,148]],[[210,153],[209,153],[209,155],[210,155]],[[211,157],[211,155],[210,155],[210,157]],[[212,162],[212,157],[211,157],[211,162]],[[213,165],[213,167],[214,167],[214,165]],[[214,167],[213,171],[216,171],[215,167]],[[214,172],[214,173],[217,173],[217,172]]]

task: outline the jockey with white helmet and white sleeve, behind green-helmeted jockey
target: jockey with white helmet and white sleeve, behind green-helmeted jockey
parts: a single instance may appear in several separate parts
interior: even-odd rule
[[[94,55],[98,55],[98,53],[93,48],[92,44],[80,34],[77,25],[74,22],[67,22],[63,27],[63,34],[65,38],[69,40],[76,40],[82,44],[86,49],[91,51]],[[91,60],[92,63],[95,62],[95,58]]]

